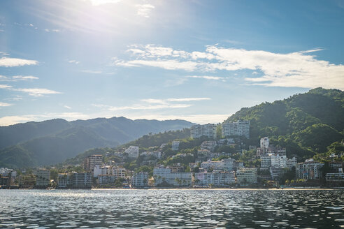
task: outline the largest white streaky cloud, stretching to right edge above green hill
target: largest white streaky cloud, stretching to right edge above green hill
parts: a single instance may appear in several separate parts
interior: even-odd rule
[[[275,53],[263,50],[244,50],[209,45],[204,52],[186,52],[157,45],[134,45],[128,51],[135,59],[116,60],[117,66],[150,66],[184,71],[240,71],[251,70],[250,84],[268,87],[304,87],[344,89],[344,65],[319,60],[313,50]],[[215,76],[216,77],[216,76]],[[210,78],[208,78],[210,80]],[[213,78],[215,80],[215,78]]]

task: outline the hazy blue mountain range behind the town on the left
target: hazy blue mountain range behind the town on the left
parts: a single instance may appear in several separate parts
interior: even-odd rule
[[[41,122],[0,127],[0,167],[31,167],[60,163],[87,149],[115,147],[148,133],[191,126],[184,120],[110,119]]]

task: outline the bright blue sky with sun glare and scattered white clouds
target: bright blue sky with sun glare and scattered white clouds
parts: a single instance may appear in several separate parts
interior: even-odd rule
[[[0,126],[219,123],[344,90],[344,1],[0,1]]]

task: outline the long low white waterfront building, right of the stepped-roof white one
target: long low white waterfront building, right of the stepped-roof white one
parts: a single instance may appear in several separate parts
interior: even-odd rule
[[[234,172],[199,172],[196,173],[197,186],[224,187],[236,182]]]

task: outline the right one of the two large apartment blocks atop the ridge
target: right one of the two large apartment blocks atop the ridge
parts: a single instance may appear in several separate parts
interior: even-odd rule
[[[222,124],[222,136],[245,136],[250,138],[250,121],[239,120]]]

